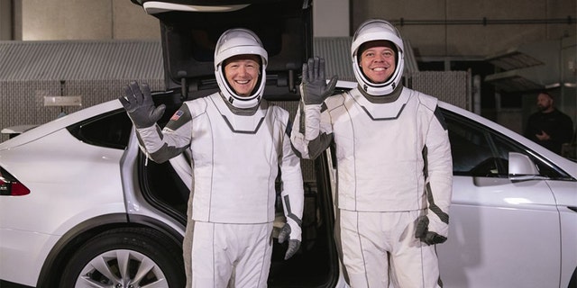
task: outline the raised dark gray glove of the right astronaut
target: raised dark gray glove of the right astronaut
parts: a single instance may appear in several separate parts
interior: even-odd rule
[[[326,85],[325,59],[308,58],[308,63],[303,64],[303,82],[300,85],[303,102],[307,105],[323,103],[333,94],[337,79],[338,76],[333,76]]]

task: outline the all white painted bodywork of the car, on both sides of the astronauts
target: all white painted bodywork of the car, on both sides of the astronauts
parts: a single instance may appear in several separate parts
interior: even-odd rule
[[[454,175],[450,234],[437,246],[444,287],[567,287],[577,266],[577,164],[471,112],[439,105],[568,175],[515,181]],[[84,143],[66,129],[120,108],[118,101],[102,103],[0,143],[0,166],[31,190],[0,196],[0,279],[37,285],[50,251],[88,220],[138,215],[184,235],[178,220],[149,205],[134,179],[123,177],[134,174],[137,162],[133,132],[122,150]],[[345,286],[343,275],[338,279],[334,287]]]

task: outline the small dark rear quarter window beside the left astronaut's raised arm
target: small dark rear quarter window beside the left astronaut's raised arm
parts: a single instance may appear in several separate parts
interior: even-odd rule
[[[133,122],[124,109],[108,112],[68,127],[77,139],[100,147],[124,149],[128,146]]]

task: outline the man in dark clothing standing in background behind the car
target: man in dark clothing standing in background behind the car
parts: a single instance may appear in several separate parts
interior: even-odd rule
[[[554,107],[554,98],[547,92],[539,93],[537,107],[539,111],[529,116],[525,137],[561,155],[563,143],[572,139],[572,120]]]

